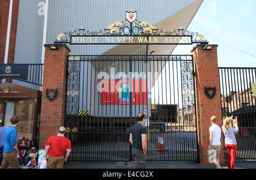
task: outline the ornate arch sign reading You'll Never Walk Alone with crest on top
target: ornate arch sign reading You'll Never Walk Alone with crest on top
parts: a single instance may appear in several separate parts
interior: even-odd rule
[[[128,14],[127,14],[128,13]],[[129,14],[130,13],[130,14]],[[131,18],[131,19],[130,19]],[[104,30],[72,30],[57,35],[55,43],[63,44],[208,44],[203,34],[180,27],[177,30],[159,30],[150,23],[141,22],[137,12],[127,12],[126,20],[115,22]],[[102,38],[105,37],[105,38]],[[117,39],[108,39],[108,37]],[[141,38],[139,38],[141,37]],[[144,37],[144,38],[142,38]],[[162,39],[160,39],[162,38]],[[102,41],[100,40],[102,39]],[[136,41],[137,40],[137,41]]]

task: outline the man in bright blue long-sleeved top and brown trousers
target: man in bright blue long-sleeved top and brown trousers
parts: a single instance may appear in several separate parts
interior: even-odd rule
[[[15,129],[16,125],[19,123],[18,116],[11,117],[11,125],[5,131],[5,139],[3,140],[3,161],[1,169],[8,168],[9,164],[13,169],[19,169],[19,160],[17,147],[17,131]]]

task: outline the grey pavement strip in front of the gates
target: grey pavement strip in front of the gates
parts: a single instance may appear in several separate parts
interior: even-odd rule
[[[222,165],[228,169],[228,165]],[[134,169],[134,162],[81,162],[68,161],[63,169]],[[147,161],[147,169],[215,169],[195,161]],[[235,169],[256,169],[256,160],[236,160]]]

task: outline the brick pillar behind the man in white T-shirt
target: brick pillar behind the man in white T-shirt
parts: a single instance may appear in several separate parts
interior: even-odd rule
[[[200,163],[210,165],[207,150],[209,146],[210,117],[217,117],[217,125],[222,126],[221,101],[220,101],[220,79],[218,73],[217,47],[212,50],[205,50],[205,45],[196,45],[192,49],[195,68],[195,89],[196,89],[196,112],[197,131],[199,141]],[[216,95],[209,99],[205,95],[205,87],[216,87]],[[222,132],[222,130],[221,130]],[[220,164],[225,164],[224,146],[221,133]],[[212,164],[211,164],[212,165]]]

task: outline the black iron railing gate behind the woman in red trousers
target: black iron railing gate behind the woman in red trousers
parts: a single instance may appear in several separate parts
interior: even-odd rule
[[[236,158],[256,159],[256,68],[219,68],[219,73],[222,118],[238,116]]]

